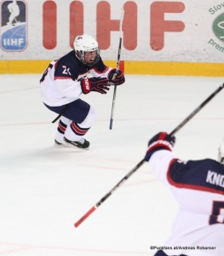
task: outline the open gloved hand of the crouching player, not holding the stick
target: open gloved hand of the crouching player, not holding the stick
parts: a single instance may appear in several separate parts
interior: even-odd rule
[[[84,78],[80,80],[83,94],[88,94],[90,91],[96,91],[101,94],[106,94],[110,90],[111,83],[106,78]]]

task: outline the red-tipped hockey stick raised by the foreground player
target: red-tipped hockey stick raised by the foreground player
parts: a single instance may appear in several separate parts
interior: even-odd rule
[[[190,119],[192,119],[193,116],[195,116],[196,113],[198,113],[202,108],[204,108],[204,106],[205,106],[208,102],[210,102],[210,100],[211,100],[215,95],[217,95],[217,94],[223,89],[223,87],[224,87],[224,84],[222,84],[222,85],[221,85],[218,89],[216,89],[206,100],[204,100],[204,102],[202,102],[202,103],[198,106],[198,108],[196,108],[194,111],[192,111],[192,113],[189,114],[189,115],[187,116],[187,118],[184,119],[184,120],[181,122],[180,125],[177,125],[176,128],[175,128],[173,131],[171,131],[171,132],[169,133],[169,135],[174,135],[177,131],[180,131],[181,128],[182,128],[184,125],[186,125],[187,122],[188,122]],[[91,208],[89,209],[89,211],[86,212],[86,213],[83,215],[83,217],[80,218],[80,219],[74,224],[74,226],[77,228],[80,224],[82,224],[82,222],[83,222],[86,218],[88,218],[91,213],[95,212],[95,209],[96,209],[97,207],[100,207],[101,204],[102,204],[104,201],[106,201],[106,199],[107,199],[110,195],[112,195],[112,193],[113,193],[116,189],[118,189],[130,176],[132,176],[132,174],[135,173],[145,162],[146,162],[145,159],[142,159],[133,169],[131,169],[131,170],[128,172],[128,174],[126,174],[126,175],[123,177],[123,179],[121,179],[121,180],[117,183],[117,185],[115,185],[115,186],[112,188],[112,190],[110,190],[104,197],[102,197],[101,200],[98,201],[98,202],[95,204],[94,207],[91,207]]]

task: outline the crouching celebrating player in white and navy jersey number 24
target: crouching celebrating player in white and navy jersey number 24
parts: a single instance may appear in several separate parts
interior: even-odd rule
[[[40,79],[43,103],[61,116],[55,144],[88,149],[83,136],[95,123],[95,109],[79,97],[92,91],[106,94],[111,85],[124,81],[120,70],[103,63],[95,38],[76,37],[74,49],[50,62]]]

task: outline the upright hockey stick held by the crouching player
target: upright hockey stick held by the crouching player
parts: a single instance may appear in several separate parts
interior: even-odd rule
[[[117,59],[117,67],[116,67],[117,73],[118,73],[118,69],[120,65],[120,57],[121,57],[123,15],[124,15],[124,11],[122,11],[122,15],[120,18],[120,28],[119,28],[120,38],[119,38],[118,59]],[[117,73],[113,75],[112,80],[116,78]],[[112,130],[112,121],[113,121],[113,112],[114,112],[114,106],[115,106],[115,100],[116,100],[116,92],[117,92],[117,85],[114,85],[113,96],[112,96],[112,113],[111,113],[110,126],[109,126],[110,130]]]

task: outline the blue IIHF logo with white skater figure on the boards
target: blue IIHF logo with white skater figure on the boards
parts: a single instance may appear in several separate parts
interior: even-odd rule
[[[26,3],[22,0],[1,4],[1,48],[5,51],[26,49]]]

